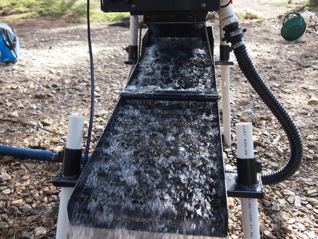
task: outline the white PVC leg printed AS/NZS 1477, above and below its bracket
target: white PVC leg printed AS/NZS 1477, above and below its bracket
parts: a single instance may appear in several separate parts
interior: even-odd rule
[[[252,123],[235,124],[238,158],[253,158]],[[259,239],[259,213],[257,199],[241,198],[244,239]]]

